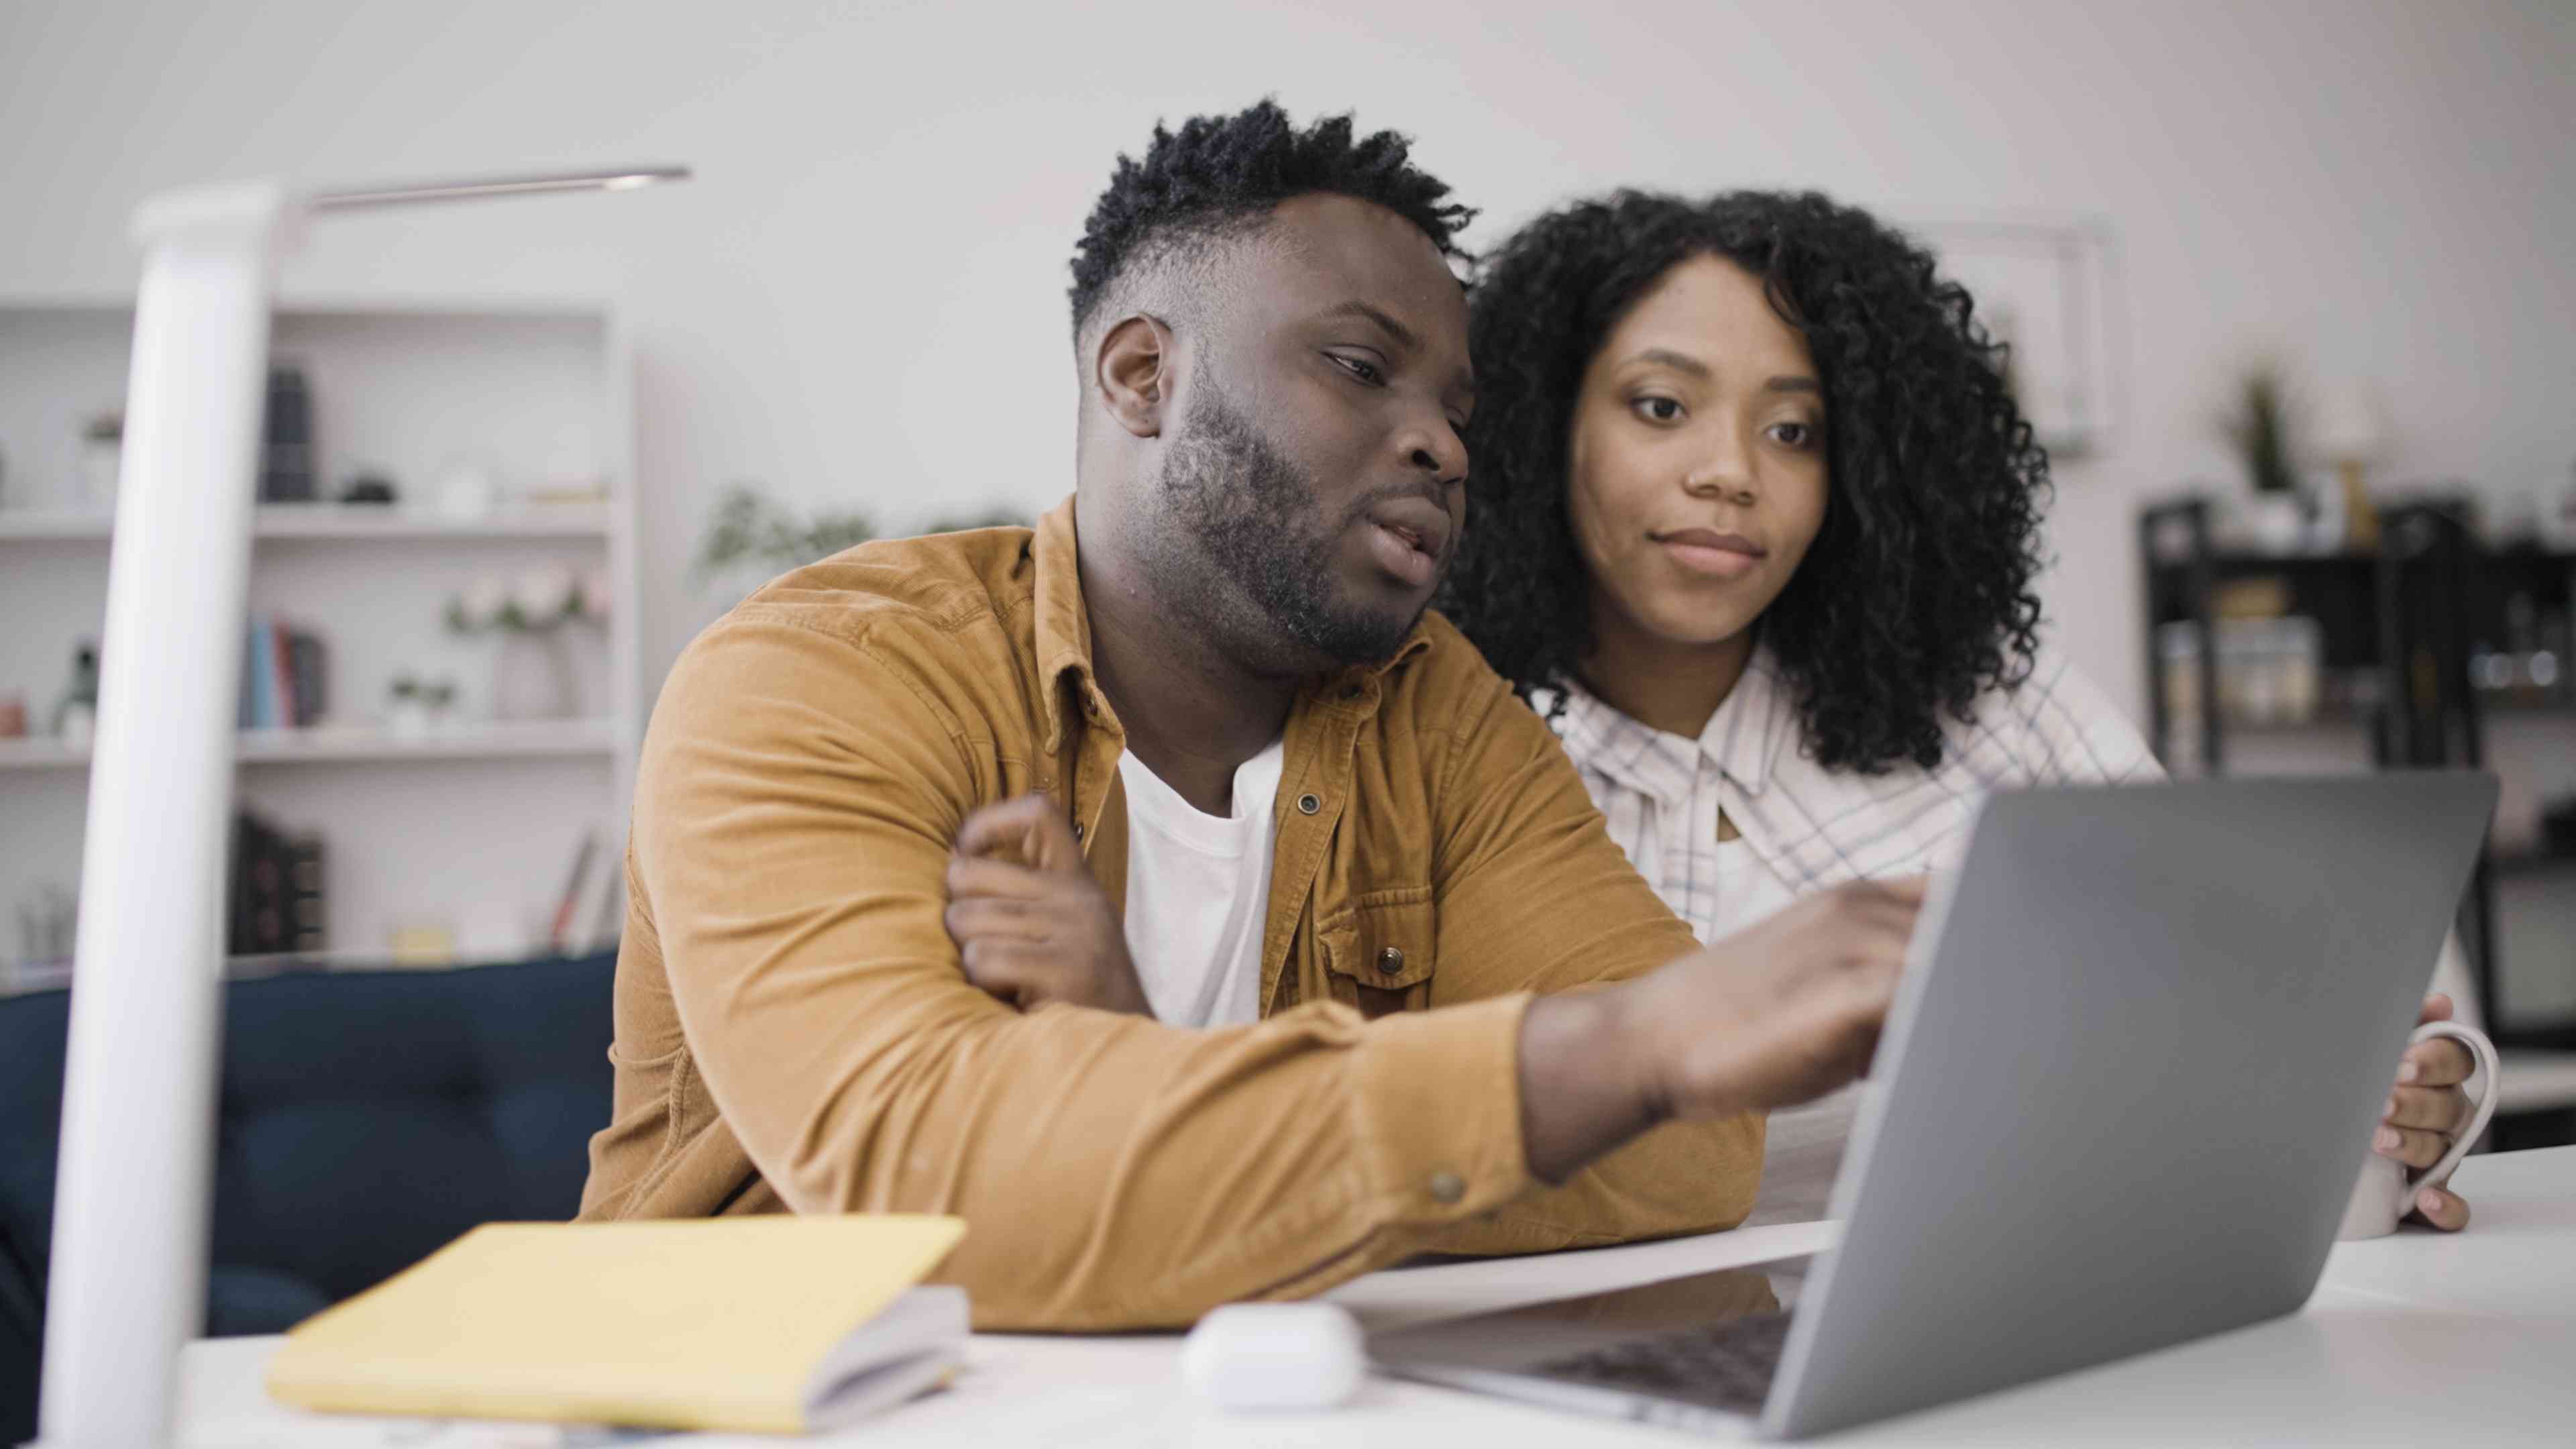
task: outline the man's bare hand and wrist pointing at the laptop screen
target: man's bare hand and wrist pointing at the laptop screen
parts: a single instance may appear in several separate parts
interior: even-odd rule
[[[1649,977],[1530,1003],[1530,1171],[1564,1181],[1656,1122],[1770,1111],[1865,1073],[1922,900],[1922,877],[1834,887]]]

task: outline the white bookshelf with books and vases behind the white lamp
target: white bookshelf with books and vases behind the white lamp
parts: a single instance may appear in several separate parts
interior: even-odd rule
[[[124,397],[134,312],[116,297],[0,297],[0,701],[33,737],[0,740],[0,967],[28,969],[21,905],[77,890],[88,748],[46,737],[72,650],[106,619],[111,508],[80,469],[82,418]],[[335,498],[361,469],[397,503],[260,505],[250,608],[319,634],[327,717],[245,730],[234,799],[327,848],[325,954],[384,962],[394,931],[443,926],[461,957],[551,918],[585,833],[623,843],[641,686],[631,364],[603,302],[283,297],[273,356],[312,384],[314,480]],[[605,482],[595,500],[531,503],[562,482],[567,436]],[[495,482],[489,508],[440,508],[456,459]],[[577,706],[495,719],[500,639],[446,627],[482,578],[567,567],[605,578],[603,627],[572,624]],[[451,678],[456,706],[394,730],[399,673]],[[592,871],[600,866],[592,864]],[[75,969],[77,975],[77,969]]]

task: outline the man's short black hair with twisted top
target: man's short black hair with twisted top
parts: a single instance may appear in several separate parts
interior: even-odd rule
[[[1445,258],[1471,260],[1453,237],[1476,211],[1445,201],[1448,183],[1412,165],[1409,152],[1412,142],[1396,131],[1352,139],[1347,113],[1301,131],[1278,101],[1190,116],[1180,131],[1157,124],[1144,160],[1118,157],[1074,242],[1074,338],[1139,260],[1257,229],[1291,196],[1332,191],[1373,201],[1422,227]]]

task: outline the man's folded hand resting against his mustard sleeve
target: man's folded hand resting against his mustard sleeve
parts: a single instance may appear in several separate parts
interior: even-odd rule
[[[1020,1011],[1061,1000],[1154,1016],[1118,913],[1043,794],[966,817],[948,859],[948,936],[966,980]]]

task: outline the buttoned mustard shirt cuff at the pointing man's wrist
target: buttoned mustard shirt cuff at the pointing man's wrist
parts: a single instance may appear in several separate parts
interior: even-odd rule
[[[1530,993],[1381,1016],[1355,1075],[1358,1137],[1386,1217],[1445,1227],[1530,1191],[1520,1018]]]

